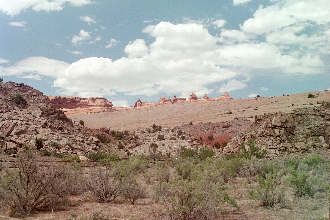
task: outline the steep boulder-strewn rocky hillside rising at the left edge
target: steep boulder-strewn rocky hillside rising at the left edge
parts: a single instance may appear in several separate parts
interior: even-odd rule
[[[30,86],[0,82],[0,106],[0,150],[7,154],[32,147],[82,155],[98,148],[96,138]]]

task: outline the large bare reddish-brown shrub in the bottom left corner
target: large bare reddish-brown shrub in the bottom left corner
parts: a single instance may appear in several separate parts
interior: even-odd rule
[[[1,181],[1,192],[11,216],[23,217],[40,209],[58,209],[67,204],[65,167],[40,167],[36,156],[24,152],[17,160],[17,171],[7,171]]]

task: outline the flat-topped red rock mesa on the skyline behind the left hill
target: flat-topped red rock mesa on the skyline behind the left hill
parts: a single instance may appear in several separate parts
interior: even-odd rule
[[[51,103],[66,115],[96,113],[112,110],[112,102],[105,98],[80,98],[73,96],[49,96]]]

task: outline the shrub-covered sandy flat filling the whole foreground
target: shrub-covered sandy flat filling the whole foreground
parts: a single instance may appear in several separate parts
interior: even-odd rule
[[[1,166],[1,215],[25,219],[329,219],[329,155],[273,160],[253,141],[215,157],[182,148],[178,157],[47,165],[36,152]],[[247,150],[246,150],[247,149]]]

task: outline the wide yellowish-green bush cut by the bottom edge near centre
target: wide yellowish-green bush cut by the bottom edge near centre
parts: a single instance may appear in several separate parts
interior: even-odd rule
[[[236,206],[235,200],[224,192],[222,183],[204,177],[173,178],[158,188],[155,198],[166,206],[171,219],[216,219],[223,203]]]

